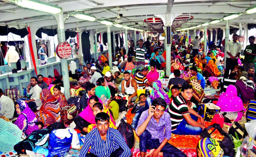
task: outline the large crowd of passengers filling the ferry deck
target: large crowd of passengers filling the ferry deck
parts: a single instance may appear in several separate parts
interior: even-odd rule
[[[206,128],[204,117],[199,114],[199,105],[208,87],[213,95],[217,95],[216,105],[221,108],[220,112],[230,121],[240,120],[245,111],[247,121],[256,119],[255,38],[249,37],[250,45],[244,51],[244,59],[240,59],[241,45],[237,42],[237,34],[233,35],[226,48],[224,71],[224,53],[219,47],[209,49],[207,56],[201,53],[202,36],[196,36],[194,40],[186,36],[173,39],[171,63],[166,63],[164,45],[147,38],[145,42],[140,39],[136,44],[131,44],[134,46],[130,46],[128,51],[116,49],[112,63],[108,62],[108,54],[103,53],[96,61],[92,58],[91,62],[86,63],[83,71],[70,73],[70,86],[81,88],[75,102],[78,114],[73,118],[74,129],[85,137],[80,156],[131,155],[126,141],[116,130],[116,120],[122,118],[119,117],[117,94],[126,96],[128,107],[133,108],[131,110],[135,113],[131,127],[140,138],[142,157],[186,156],[168,141],[171,134],[200,135]],[[186,42],[188,47],[184,46]],[[77,56],[78,49],[75,44],[74,56]],[[39,55],[43,58],[43,49]],[[82,58],[78,59],[82,64]],[[112,69],[109,64],[113,65]],[[162,75],[166,64],[171,65],[172,74],[169,77]],[[9,127],[19,129],[16,136],[10,137],[12,143],[21,141],[21,135],[30,135],[35,130],[61,121],[62,110],[69,104],[62,93],[62,76],[51,78],[52,83],[48,85],[43,78],[41,74],[31,77],[27,96],[15,102],[0,89],[0,116],[7,121],[16,117],[14,124],[9,124]],[[166,86],[160,78],[168,79]],[[205,155],[209,154],[205,152],[208,151],[205,150],[206,141],[216,144],[216,157],[223,156],[219,144],[209,138],[199,141],[198,156],[208,156]],[[150,151],[146,154],[147,150]]]

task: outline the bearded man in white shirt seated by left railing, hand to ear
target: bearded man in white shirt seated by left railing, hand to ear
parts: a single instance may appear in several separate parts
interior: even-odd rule
[[[32,89],[30,89],[32,86]],[[32,111],[39,110],[40,107],[42,106],[42,102],[40,100],[40,93],[42,91],[42,88],[38,86],[37,84],[37,78],[36,77],[31,77],[30,78],[30,84],[27,86],[27,94],[31,95],[30,99],[27,98],[21,98],[18,99],[17,101],[24,100],[27,105],[29,105],[29,108],[31,108]],[[35,108],[36,105],[36,108]]]

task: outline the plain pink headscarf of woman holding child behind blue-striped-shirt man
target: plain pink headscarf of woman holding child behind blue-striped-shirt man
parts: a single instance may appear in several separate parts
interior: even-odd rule
[[[92,96],[96,96],[96,95],[92,95]],[[89,100],[92,96],[90,96],[89,99],[88,99],[88,102],[87,102],[88,106],[81,113],[79,113],[79,116],[81,116],[84,120],[86,120],[87,122],[89,122],[91,124],[96,124],[95,123],[95,116],[93,115],[93,111],[92,111],[92,109],[89,105]],[[102,103],[100,98],[99,97],[97,97],[97,98],[99,99],[98,102]]]

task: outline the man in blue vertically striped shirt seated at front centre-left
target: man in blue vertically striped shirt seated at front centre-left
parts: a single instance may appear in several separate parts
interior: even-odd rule
[[[79,157],[129,157],[131,150],[125,143],[120,132],[109,128],[109,115],[100,112],[95,116],[97,128],[85,136],[83,148]],[[90,153],[88,149],[91,146]]]

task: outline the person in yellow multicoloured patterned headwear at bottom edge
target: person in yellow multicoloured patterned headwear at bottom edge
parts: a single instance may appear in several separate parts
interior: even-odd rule
[[[220,147],[219,142],[212,138],[204,138],[199,140],[197,145],[198,157],[223,157],[224,151]]]

